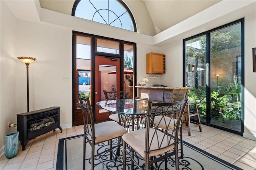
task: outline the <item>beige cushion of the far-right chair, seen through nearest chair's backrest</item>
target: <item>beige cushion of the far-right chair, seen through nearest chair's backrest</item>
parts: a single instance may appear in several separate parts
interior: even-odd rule
[[[171,121],[171,122],[170,122]],[[163,130],[168,130],[171,128],[174,128],[174,125],[176,124],[177,119],[172,119],[170,117],[165,116],[155,116],[154,117],[154,125],[158,126],[158,128],[162,128]],[[159,123],[159,125],[158,125]],[[170,124],[169,124],[170,123]],[[168,126],[168,128],[166,128]]]

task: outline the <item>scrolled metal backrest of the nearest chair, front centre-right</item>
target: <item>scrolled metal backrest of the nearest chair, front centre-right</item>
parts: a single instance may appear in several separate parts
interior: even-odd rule
[[[182,101],[170,103],[153,103],[152,101],[148,101],[145,152],[164,149],[174,143],[178,144],[179,127],[187,101],[187,98]],[[174,124],[174,128],[172,130],[161,131],[158,128],[160,122],[158,124],[154,123],[156,117],[160,117],[160,122],[164,122],[166,129],[171,124]]]

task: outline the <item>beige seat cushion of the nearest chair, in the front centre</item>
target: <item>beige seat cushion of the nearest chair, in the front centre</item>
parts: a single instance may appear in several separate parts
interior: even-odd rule
[[[152,139],[152,136],[154,135],[154,132],[155,132],[155,129],[154,128],[150,128],[149,130],[149,143],[151,142],[151,139]],[[167,144],[165,142],[167,142],[167,138],[168,140],[170,140],[170,136],[168,135],[165,135],[164,133],[156,130],[157,132],[157,135],[158,135],[158,139],[162,139],[164,138],[163,140],[163,144],[162,144],[162,147],[164,146],[167,146]],[[145,136],[146,135],[146,129],[140,129],[140,130],[135,130],[135,131],[132,131],[132,132],[129,132],[129,133],[126,133],[123,135],[123,141],[125,141],[128,145],[130,145],[132,148],[134,148],[134,150],[136,152],[138,152],[138,154],[140,154],[140,156],[142,156],[143,158],[145,158]],[[156,134],[155,134],[156,136]],[[172,139],[172,141],[170,142],[173,143],[174,140]],[[163,148],[163,149],[160,149],[160,150],[155,150],[155,151],[151,151],[149,153],[149,156],[155,156],[155,155],[158,155],[158,154],[162,154],[164,152],[167,152],[171,149],[174,148],[174,143],[171,144],[170,146],[166,147],[166,148]],[[158,149],[158,141],[157,141],[157,138],[154,137],[154,140],[152,141],[152,144],[151,144],[151,147],[150,147],[150,150],[154,150],[154,149]]]

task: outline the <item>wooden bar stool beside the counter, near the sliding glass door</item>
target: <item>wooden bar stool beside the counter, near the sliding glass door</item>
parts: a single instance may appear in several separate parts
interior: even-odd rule
[[[190,106],[194,105],[196,111],[195,112],[191,112],[190,111]],[[201,122],[200,122],[200,117],[199,117],[199,113],[198,113],[198,108],[197,108],[197,102],[196,101],[188,101],[187,104],[187,112],[186,112],[186,124],[187,124],[187,128],[188,128],[188,136],[191,136],[191,128],[192,127],[199,127],[200,132],[202,132],[202,126],[201,126]],[[190,121],[190,117],[192,116],[196,116],[197,121]],[[190,122],[191,123],[195,123],[196,125],[190,126]]]

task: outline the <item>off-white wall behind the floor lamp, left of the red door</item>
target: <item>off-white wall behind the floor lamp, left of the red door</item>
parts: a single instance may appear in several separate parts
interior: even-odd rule
[[[18,20],[17,55],[35,57],[29,66],[30,111],[60,106],[60,124],[72,125],[72,30]],[[26,112],[26,67],[17,62],[17,112]],[[67,76],[68,81],[63,77]]]

